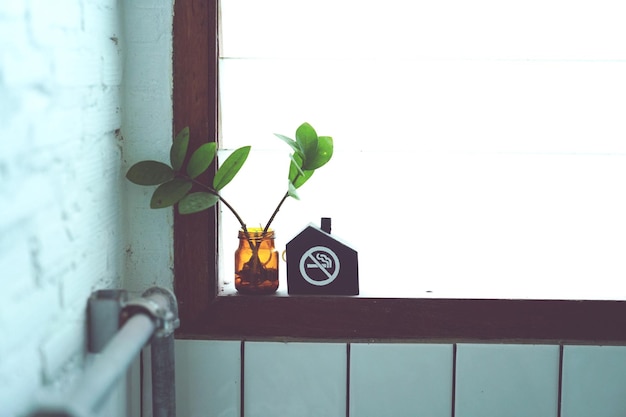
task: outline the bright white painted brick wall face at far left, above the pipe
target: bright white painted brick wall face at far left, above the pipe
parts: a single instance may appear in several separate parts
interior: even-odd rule
[[[121,9],[0,2],[2,417],[69,386],[87,297],[122,282]]]

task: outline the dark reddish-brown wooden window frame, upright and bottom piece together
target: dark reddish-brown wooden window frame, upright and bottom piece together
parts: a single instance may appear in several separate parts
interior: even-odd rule
[[[189,126],[195,148],[217,139],[217,0],[177,0],[174,8],[174,131]],[[215,210],[175,214],[178,338],[626,342],[624,301],[218,296],[217,230]]]

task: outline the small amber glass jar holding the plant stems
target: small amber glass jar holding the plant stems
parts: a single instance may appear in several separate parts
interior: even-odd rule
[[[242,294],[272,294],[278,289],[278,251],[274,231],[261,228],[239,231],[235,251],[235,288]]]

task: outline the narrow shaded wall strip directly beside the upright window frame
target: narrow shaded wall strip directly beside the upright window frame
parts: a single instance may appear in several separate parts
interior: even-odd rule
[[[124,3],[124,169],[133,163],[169,160],[172,142],[173,0]],[[153,187],[128,181],[125,288],[143,292],[173,287],[172,210],[151,210]]]

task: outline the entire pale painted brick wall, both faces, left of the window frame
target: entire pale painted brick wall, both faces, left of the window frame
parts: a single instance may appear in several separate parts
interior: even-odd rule
[[[171,9],[0,2],[0,416],[76,380],[92,291],[171,285],[171,220],[124,179],[171,138]]]

